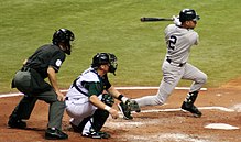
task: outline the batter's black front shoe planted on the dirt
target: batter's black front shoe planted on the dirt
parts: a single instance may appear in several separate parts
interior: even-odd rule
[[[196,118],[201,117],[201,112],[197,109],[197,107],[194,106],[193,102],[184,101],[182,105],[182,109],[191,112]]]

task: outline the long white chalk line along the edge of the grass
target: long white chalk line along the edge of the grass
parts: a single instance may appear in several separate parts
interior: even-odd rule
[[[135,90],[135,89],[158,89],[158,87],[114,87],[118,90]],[[189,90],[189,87],[175,87],[176,90]],[[201,88],[200,90],[207,90],[207,88]],[[61,90],[62,92],[67,92],[68,90]],[[0,98],[4,97],[15,97],[15,96],[22,96],[22,92],[14,92],[14,94],[2,94],[0,95]]]

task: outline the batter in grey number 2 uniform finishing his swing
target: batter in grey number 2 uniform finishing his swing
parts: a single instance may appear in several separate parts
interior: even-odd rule
[[[187,63],[190,47],[198,44],[198,33],[194,29],[199,19],[195,10],[184,9],[179,12],[179,17],[175,17],[175,24],[167,25],[165,29],[167,52],[162,66],[163,79],[156,95],[134,99],[140,107],[165,103],[178,81],[188,79],[193,80],[193,84],[182,109],[191,112],[194,117],[201,117],[194,102],[207,80],[207,75]],[[119,103],[119,108],[125,117],[131,116],[132,109],[128,109],[124,103]]]

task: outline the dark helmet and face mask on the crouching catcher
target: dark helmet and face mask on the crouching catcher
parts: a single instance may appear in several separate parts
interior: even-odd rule
[[[117,70],[117,57],[112,53],[97,53],[92,57],[91,67],[97,69],[100,65],[108,65],[109,64],[109,72],[113,73]]]

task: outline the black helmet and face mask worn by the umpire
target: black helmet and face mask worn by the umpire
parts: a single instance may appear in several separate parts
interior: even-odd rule
[[[56,31],[53,35],[53,44],[58,45],[58,43],[64,43],[65,44],[65,48],[64,52],[68,55],[70,55],[72,52],[72,45],[70,45],[70,41],[75,40],[75,35],[72,31],[67,30],[67,29],[59,29],[58,31]]]

